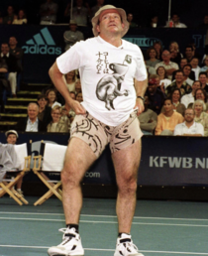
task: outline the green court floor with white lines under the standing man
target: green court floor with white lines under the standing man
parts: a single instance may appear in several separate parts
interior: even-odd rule
[[[61,202],[37,197],[19,206],[0,198],[0,256],[44,256],[60,243]],[[80,234],[85,256],[113,256],[117,237],[115,199],[84,198]],[[134,243],[145,256],[208,255],[208,202],[138,200],[132,225]]]

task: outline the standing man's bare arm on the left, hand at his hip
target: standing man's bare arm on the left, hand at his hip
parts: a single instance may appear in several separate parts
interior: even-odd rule
[[[66,87],[66,84],[63,80],[63,74],[60,72],[60,70],[57,67],[56,62],[52,64],[52,67],[49,71],[50,77],[52,79],[52,83],[56,87],[56,89],[59,91],[59,93],[63,96],[65,99],[65,107],[69,110],[69,108],[72,108],[73,111],[78,114],[85,114],[86,111],[82,107],[82,105],[76,101],[73,100],[70,97],[69,90]]]

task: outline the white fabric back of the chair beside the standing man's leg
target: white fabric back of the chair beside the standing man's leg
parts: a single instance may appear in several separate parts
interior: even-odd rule
[[[66,149],[66,146],[46,143],[42,170],[44,172],[60,172],[63,167]]]

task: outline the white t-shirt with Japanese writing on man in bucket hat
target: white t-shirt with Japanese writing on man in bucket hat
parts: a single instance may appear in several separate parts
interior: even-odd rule
[[[140,48],[122,40],[119,48],[99,36],[81,41],[56,59],[62,73],[79,68],[83,107],[101,122],[117,126],[136,103],[134,78],[147,78]]]

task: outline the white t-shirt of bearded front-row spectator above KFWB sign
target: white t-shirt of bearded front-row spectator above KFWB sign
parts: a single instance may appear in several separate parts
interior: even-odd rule
[[[204,136],[204,127],[200,123],[194,122],[189,128],[185,125],[185,122],[177,124],[174,128],[174,135],[183,134],[201,134]]]

